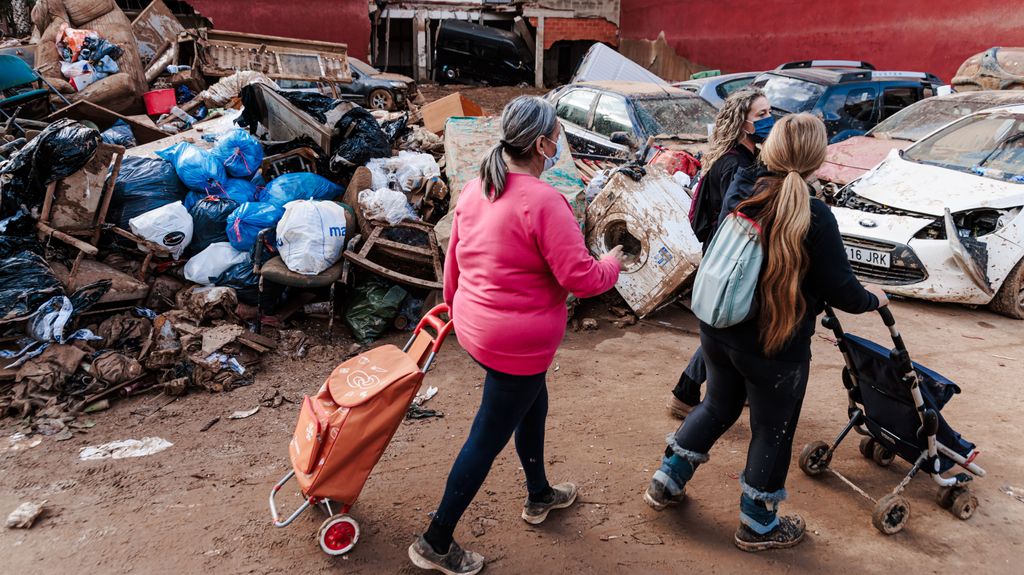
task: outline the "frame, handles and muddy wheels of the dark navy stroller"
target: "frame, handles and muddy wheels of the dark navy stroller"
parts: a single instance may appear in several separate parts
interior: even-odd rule
[[[868,416],[865,413],[865,406],[862,404],[860,383],[854,362],[850,356],[846,333],[843,330],[839,317],[833,308],[825,305],[824,311],[821,324],[831,329],[833,334],[835,334],[836,345],[843,354],[843,359],[846,363],[846,367],[843,369],[843,384],[847,389],[849,400],[847,413],[850,421],[830,444],[824,441],[816,441],[804,447],[799,459],[801,471],[811,477],[820,476],[827,471],[849,485],[854,491],[876,503],[871,515],[871,523],[879,531],[886,535],[897,533],[906,525],[910,516],[910,504],[903,497],[902,493],[910,483],[910,480],[919,472],[924,472],[931,476],[932,480],[939,486],[936,497],[939,505],[949,510],[962,520],[969,519],[978,505],[977,497],[967,487],[967,484],[972,480],[972,476],[966,473],[958,473],[953,477],[942,477],[939,457],[940,455],[947,457],[955,465],[978,477],[984,477],[985,470],[974,462],[974,458],[978,454],[977,450],[969,458],[964,457],[943,445],[936,438],[939,429],[939,414],[925,403],[921,388],[919,387],[918,372],[914,370],[906,345],[903,343],[903,337],[896,328],[896,320],[888,306],[879,308],[878,312],[882,316],[883,323],[889,329],[889,335],[893,342],[894,347],[890,351],[890,359],[895,363],[901,377],[901,383],[907,387],[913,399],[921,424],[921,427],[918,429],[918,437],[927,440],[927,448],[921,451],[915,460],[907,459],[911,465],[910,471],[892,491],[879,499],[876,499],[844,477],[839,471],[833,469],[833,454],[851,431],[856,431],[863,436],[860,441],[861,454],[864,457],[874,460],[879,466],[888,467],[895,459],[896,453],[887,447],[887,445],[894,444],[895,441],[893,438],[884,437],[886,435],[885,430],[879,434],[883,437],[876,437],[867,428],[866,422]]]

